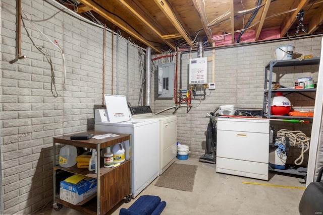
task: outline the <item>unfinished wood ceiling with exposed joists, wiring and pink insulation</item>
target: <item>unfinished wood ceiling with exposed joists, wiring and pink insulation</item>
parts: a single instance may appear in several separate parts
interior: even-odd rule
[[[156,52],[323,32],[323,0],[56,1]]]

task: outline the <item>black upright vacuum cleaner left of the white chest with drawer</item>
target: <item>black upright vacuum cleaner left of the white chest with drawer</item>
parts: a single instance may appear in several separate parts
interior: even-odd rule
[[[207,125],[206,131],[206,144],[205,144],[205,154],[199,158],[200,162],[207,162],[211,164],[216,164],[216,150],[217,150],[217,121],[213,118],[214,113],[218,110],[210,112],[209,123]]]

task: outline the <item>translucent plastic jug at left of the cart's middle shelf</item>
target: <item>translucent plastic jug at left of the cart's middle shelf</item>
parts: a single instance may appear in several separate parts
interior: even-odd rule
[[[59,164],[61,167],[68,168],[76,164],[77,149],[74,146],[65,145],[60,150]]]

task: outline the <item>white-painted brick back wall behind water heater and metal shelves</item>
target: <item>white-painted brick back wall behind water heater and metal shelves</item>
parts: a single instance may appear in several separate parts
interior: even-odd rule
[[[191,155],[201,156],[205,152],[206,130],[208,118],[206,113],[212,112],[221,105],[234,105],[235,108],[262,108],[264,88],[264,67],[275,59],[275,49],[281,45],[291,44],[295,46],[295,52],[303,55],[320,55],[321,36],[293,39],[290,41],[272,41],[245,46],[233,46],[216,49],[215,57],[215,83],[216,90],[206,89],[205,100],[199,104],[199,96],[192,100],[192,106],[179,108],[176,111],[178,117],[177,138],[178,142],[188,145]],[[210,50],[204,51],[204,57],[212,56]],[[197,57],[197,52],[192,53],[192,58]],[[187,89],[189,53],[183,54],[182,62],[182,89]],[[211,82],[211,62],[208,62],[207,81]],[[284,75],[280,84],[286,87],[294,86],[294,82],[300,77],[312,77],[317,81],[318,65],[290,67],[295,72]],[[311,69],[311,72],[309,71]],[[280,71],[281,70],[281,71]],[[278,68],[278,73],[286,74],[285,68]],[[180,71],[179,71],[180,73]],[[178,75],[178,80],[180,75]],[[276,76],[274,75],[274,79]],[[178,84],[179,85],[179,84]],[[315,94],[310,95],[315,98]],[[295,108],[303,108],[313,111],[314,100],[292,94],[288,97]],[[185,105],[182,104],[182,105]],[[174,106],[172,99],[155,99],[152,109],[154,112]],[[174,109],[165,111],[164,114],[172,114]],[[286,127],[287,126],[287,127]],[[290,130],[302,130],[310,136],[311,124],[299,123],[275,123],[276,130],[288,128]]]

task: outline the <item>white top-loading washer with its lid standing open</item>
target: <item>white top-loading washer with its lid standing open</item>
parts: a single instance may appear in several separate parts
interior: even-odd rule
[[[125,96],[104,95],[104,99],[106,109],[95,110],[94,130],[131,134],[131,190],[135,198],[158,177],[158,120],[131,119]]]

